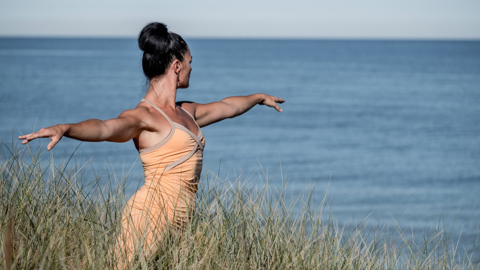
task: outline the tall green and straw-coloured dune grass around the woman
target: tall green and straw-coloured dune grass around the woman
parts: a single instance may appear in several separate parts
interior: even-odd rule
[[[124,260],[112,252],[123,179],[86,179],[81,166],[64,170],[40,151],[2,149],[0,268],[115,269]],[[182,237],[165,237],[149,258],[137,250],[129,269],[480,269],[448,230],[419,243],[398,225],[339,227],[312,190],[292,197],[258,177],[256,188],[207,173]]]

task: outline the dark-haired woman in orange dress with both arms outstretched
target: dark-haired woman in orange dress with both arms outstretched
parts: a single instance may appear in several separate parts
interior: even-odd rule
[[[205,139],[201,127],[238,116],[256,104],[282,111],[285,100],[265,94],[224,98],[199,104],[176,102],[177,89],[189,86],[192,56],[185,41],[162,23],[146,25],[138,37],[143,70],[149,80],[144,99],[117,118],[57,124],[19,136],[22,144],[50,138],[51,150],[62,136],[99,142],[133,140],[145,173],[145,184],[127,203],[119,235],[119,250],[130,261],[136,245],[146,254],[155,250],[167,228],[181,233],[195,208]]]

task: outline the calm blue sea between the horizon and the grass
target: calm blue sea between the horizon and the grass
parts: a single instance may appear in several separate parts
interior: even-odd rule
[[[193,70],[178,100],[257,92],[287,100],[282,113],[257,106],[204,127],[206,170],[261,184],[262,167],[278,186],[283,173],[294,196],[314,185],[316,201],[327,192],[339,224],[370,215],[369,222],[428,233],[443,215],[453,239],[461,233],[460,243],[473,245],[480,233],[480,42],[187,42]],[[0,138],[9,146],[34,127],[116,117],[144,89],[134,39],[0,38]],[[68,158],[78,145],[64,138],[53,154]],[[106,164],[118,175],[132,168],[127,194],[142,181],[131,142],[82,143],[77,162],[90,158],[101,175]]]

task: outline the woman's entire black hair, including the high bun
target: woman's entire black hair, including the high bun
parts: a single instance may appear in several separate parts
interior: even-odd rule
[[[163,23],[145,25],[138,35],[138,47],[144,51],[142,66],[149,80],[165,74],[173,60],[183,61],[187,53],[185,40],[169,32]]]

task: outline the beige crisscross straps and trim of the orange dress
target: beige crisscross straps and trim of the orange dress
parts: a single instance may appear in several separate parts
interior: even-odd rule
[[[139,149],[139,153],[140,154],[143,154],[143,153],[147,153],[147,152],[150,152],[150,151],[153,151],[161,146],[163,146],[164,144],[166,144],[170,139],[171,137],[173,136],[174,132],[175,132],[175,129],[181,129],[182,131],[186,132],[188,135],[190,135],[192,137],[193,140],[195,140],[195,146],[193,147],[192,151],[190,151],[190,153],[188,153],[187,155],[185,155],[184,157],[180,158],[179,160],[176,160],[176,161],[173,161],[173,162],[170,162],[168,163],[167,167],[165,167],[165,171],[168,171],[170,170],[171,168],[177,166],[177,165],[180,165],[181,163],[183,163],[185,160],[188,160],[190,159],[193,154],[196,152],[197,150],[197,147],[200,147],[200,150],[204,150],[204,145],[202,143],[202,139],[203,139],[203,133],[202,133],[202,130],[200,129],[200,126],[198,126],[197,124],[197,127],[198,127],[198,135],[194,135],[192,133],[192,131],[190,131],[188,128],[186,128],[185,126],[179,124],[179,123],[176,123],[176,122],[173,122],[165,112],[163,112],[160,108],[158,108],[155,104],[153,104],[153,102],[151,102],[150,100],[148,99],[142,99],[141,101],[144,101],[146,103],[148,103],[150,106],[152,106],[155,110],[157,110],[158,112],[160,112],[163,117],[165,117],[165,119],[167,119],[168,123],[170,123],[170,126],[171,126],[171,130],[170,130],[170,133],[168,134],[168,136],[163,139],[162,141],[160,141],[159,143],[156,143],[155,145],[151,146],[151,147],[147,147],[147,148],[144,148],[144,149]],[[181,108],[181,106],[180,106]],[[184,110],[186,113],[188,113],[188,115],[190,115],[190,117],[192,117],[193,121],[195,123],[197,123],[195,121],[195,118],[193,117],[193,115],[188,112],[188,110],[185,110],[183,108],[181,108],[182,110]]]

